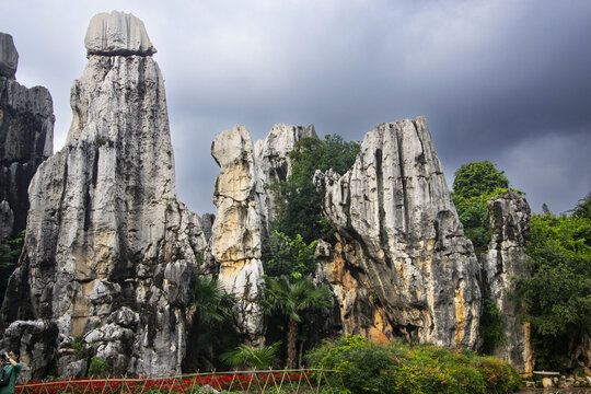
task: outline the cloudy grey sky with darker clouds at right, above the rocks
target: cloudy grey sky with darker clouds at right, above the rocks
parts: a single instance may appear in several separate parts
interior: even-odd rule
[[[88,24],[113,10],[158,49],[178,194],[199,215],[215,212],[211,141],[235,124],[254,140],[285,123],[361,141],[425,115],[450,188],[461,164],[490,160],[536,212],[591,192],[589,0],[5,1],[16,80],[54,99],[55,151]]]

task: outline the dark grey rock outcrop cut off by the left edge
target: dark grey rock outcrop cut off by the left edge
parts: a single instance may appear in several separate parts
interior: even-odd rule
[[[54,105],[47,89],[14,80],[19,54],[0,33],[0,241],[26,227],[27,188],[54,151]]]

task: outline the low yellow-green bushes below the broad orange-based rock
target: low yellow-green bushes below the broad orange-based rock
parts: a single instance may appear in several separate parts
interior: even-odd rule
[[[432,345],[379,345],[359,336],[326,340],[308,355],[314,368],[343,371],[352,393],[510,393],[520,389],[514,368],[470,350]]]

